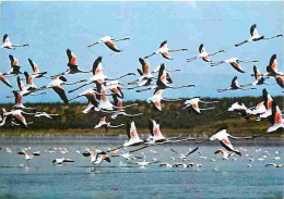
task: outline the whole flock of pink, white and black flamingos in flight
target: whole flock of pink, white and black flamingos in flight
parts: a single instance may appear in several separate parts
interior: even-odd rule
[[[236,43],[235,47],[238,48],[247,42],[256,42],[261,40],[269,40],[276,37],[283,37],[283,35],[276,35],[272,37],[265,37],[259,35],[257,30],[257,25],[252,25],[250,27],[250,38],[244,40],[242,42]],[[88,48],[95,48],[94,46],[104,43],[108,49],[111,51],[119,53],[122,50],[120,50],[116,42],[122,41],[122,40],[129,40],[129,38],[120,38],[115,39],[110,36],[105,36],[103,38],[99,38],[98,41],[92,43],[88,46]],[[16,49],[20,47],[28,47],[28,45],[13,45],[8,35],[5,34],[3,36],[3,43],[1,48],[4,49]],[[29,47],[28,47],[29,48]],[[83,71],[78,66],[76,63],[76,57],[75,54],[70,50],[67,49],[67,57],[68,57],[68,70],[60,73],[60,74],[54,74],[48,75],[47,72],[39,71],[38,65],[31,59],[28,59],[28,62],[32,66],[33,72],[22,72],[20,63],[15,57],[12,54],[9,55],[9,59],[11,61],[11,70],[7,73],[0,73],[0,79],[1,82],[8,86],[11,87],[13,97],[8,98],[14,98],[14,105],[12,110],[5,110],[4,108],[1,111],[0,116],[0,126],[9,125],[11,128],[14,128],[16,126],[20,126],[22,128],[26,128],[28,125],[32,125],[32,121],[27,122],[25,119],[25,115],[31,115],[31,117],[48,117],[52,119],[52,116],[56,116],[57,114],[49,114],[47,112],[37,112],[37,108],[28,108],[23,104],[23,98],[27,96],[37,96],[37,95],[45,95],[46,92],[43,92],[43,90],[46,89],[52,89],[57,92],[58,97],[66,103],[69,104],[70,101],[78,99],[80,97],[85,97],[87,99],[87,105],[82,111],[83,113],[87,114],[90,112],[95,112],[98,115],[98,123],[95,125],[95,128],[105,127],[105,128],[116,128],[123,126],[125,124],[119,125],[113,125],[110,122],[107,122],[109,120],[115,120],[118,116],[126,116],[127,123],[126,123],[126,129],[128,135],[128,140],[119,147],[116,147],[114,149],[108,149],[105,151],[96,150],[85,150],[82,154],[84,157],[91,157],[91,162],[94,164],[95,167],[100,165],[104,161],[110,162],[110,156],[109,153],[115,153],[113,157],[122,157],[127,160],[130,159],[137,159],[138,157],[134,156],[134,152],[142,150],[144,148],[149,148],[152,146],[157,145],[166,145],[166,144],[177,144],[181,141],[194,141],[196,144],[202,144],[205,141],[213,141],[218,140],[222,145],[223,149],[220,149],[215,151],[215,153],[223,153],[224,159],[228,159],[234,153],[241,156],[241,152],[236,150],[229,138],[232,139],[253,139],[259,136],[270,134],[273,132],[280,132],[283,130],[284,124],[282,119],[281,110],[276,103],[276,101],[269,95],[267,89],[264,88],[262,90],[263,101],[256,104],[253,108],[247,108],[242,102],[235,102],[232,104],[230,108],[226,111],[233,111],[239,113],[239,115],[247,121],[249,121],[250,115],[256,115],[257,121],[262,120],[269,120],[271,123],[270,126],[268,126],[268,129],[264,134],[257,135],[257,136],[249,136],[249,137],[234,137],[227,133],[227,126],[223,125],[221,126],[216,133],[211,136],[209,139],[197,141],[194,138],[182,138],[182,137],[171,137],[166,138],[161,129],[159,129],[159,121],[151,117],[149,119],[149,128],[150,128],[150,137],[146,140],[143,140],[139,137],[134,119],[138,115],[141,115],[143,113],[137,113],[137,114],[129,114],[127,113],[127,109],[134,107],[137,104],[130,104],[130,105],[122,105],[122,99],[125,97],[122,90],[130,90],[134,89],[137,92],[143,92],[146,90],[154,90],[153,97],[147,99],[149,103],[153,103],[153,109],[156,111],[162,111],[162,101],[181,101],[184,103],[182,109],[189,109],[191,112],[196,114],[202,114],[202,111],[204,110],[211,110],[214,109],[213,107],[206,108],[206,109],[200,109],[200,103],[217,103],[218,101],[203,101],[200,99],[200,97],[194,97],[191,99],[165,99],[163,98],[163,92],[165,89],[179,89],[182,87],[194,87],[194,84],[187,84],[177,86],[173,84],[173,79],[170,78],[171,72],[178,72],[179,69],[174,70],[167,70],[165,64],[158,65],[155,70],[150,69],[150,64],[147,63],[147,59],[161,54],[164,59],[173,60],[170,54],[173,52],[177,51],[187,51],[186,48],[181,49],[169,49],[167,45],[167,40],[163,41],[161,46],[157,48],[156,51],[153,53],[150,53],[149,55],[145,55],[144,58],[139,58],[139,62],[141,63],[141,69],[138,69],[138,75],[139,77],[134,80],[131,80],[129,83],[120,83],[119,79],[126,77],[126,76],[134,76],[135,73],[128,73],[123,74],[119,77],[108,77],[103,72],[103,58],[98,57],[94,63],[93,69],[91,71]],[[237,73],[245,73],[241,63],[248,63],[248,62],[258,62],[257,60],[240,60],[237,58],[229,58],[220,62],[212,62],[211,57],[222,53],[224,50],[220,50],[213,53],[208,53],[205,51],[205,48],[203,45],[200,45],[199,47],[199,54],[197,54],[193,58],[187,59],[187,62],[192,62],[194,60],[202,59],[204,62],[208,62],[210,66],[215,67],[221,64],[229,64],[233,66],[234,70],[236,70]],[[3,70],[3,67],[2,67]],[[79,82],[74,83],[68,83],[67,78],[64,76],[67,75],[78,75],[79,73],[91,73],[90,79],[81,79]],[[157,74],[157,75],[156,75]],[[250,84],[240,85],[238,83],[237,76],[235,76],[232,79],[230,86],[228,88],[218,89],[218,92],[223,91],[229,91],[229,90],[249,90],[249,89],[256,89],[258,85],[263,85],[267,83],[267,79],[274,78],[276,80],[276,84],[284,88],[284,78],[283,72],[277,71],[277,61],[276,61],[276,54],[273,54],[270,59],[269,65],[267,66],[267,73],[262,74],[259,72],[257,66],[253,66],[253,74],[251,74],[255,77],[255,82]],[[16,78],[16,79],[13,79]],[[35,83],[40,78],[50,78],[50,83],[47,85],[44,85],[42,87],[37,87]],[[10,82],[16,80],[19,89],[14,88]],[[25,83],[24,83],[25,80]],[[69,99],[67,96],[66,89],[62,87],[64,85],[75,85],[80,84],[76,88],[69,90],[68,92],[74,92],[83,87],[91,86],[91,88],[84,90],[83,92],[76,95],[72,99]],[[110,90],[110,92],[108,92]],[[111,97],[113,103],[109,101],[109,97]],[[26,112],[27,111],[27,112]],[[128,147],[137,146],[138,148],[133,150],[129,150],[125,153],[119,153],[120,149],[127,149]],[[7,149],[8,150],[8,149]],[[9,150],[8,150],[9,151]],[[186,160],[187,157],[193,152],[198,151],[198,147],[193,150],[189,151],[187,154],[182,154],[180,152],[177,152],[171,149],[171,152],[177,153],[181,160]],[[39,152],[28,153],[26,150],[23,150],[19,152],[19,154],[25,156],[25,159],[28,163],[28,161],[35,157],[39,156]],[[61,164],[63,162],[73,162],[73,160],[62,158],[62,159],[56,159],[52,163]],[[134,164],[139,164],[141,166],[145,166],[147,164],[157,163],[158,161],[144,161],[142,162],[134,162]],[[159,164],[161,166],[192,166],[191,164],[185,164],[185,163],[175,163],[173,165],[164,162]],[[274,165],[276,167],[283,166],[283,164],[268,164],[268,165]],[[200,166],[200,165],[198,165]]]

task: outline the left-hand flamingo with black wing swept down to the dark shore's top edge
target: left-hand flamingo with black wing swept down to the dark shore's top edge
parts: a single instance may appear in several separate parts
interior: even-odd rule
[[[60,97],[60,99],[66,104],[69,104],[68,98],[66,96],[64,88],[61,87],[61,85],[74,85],[74,84],[82,83],[82,82],[85,82],[85,80],[79,80],[79,82],[75,82],[75,83],[67,83],[66,77],[60,75],[60,76],[56,76],[54,78],[54,80],[51,80],[48,85],[43,86],[43,87],[38,88],[37,90],[52,88],[57,92],[57,95]]]

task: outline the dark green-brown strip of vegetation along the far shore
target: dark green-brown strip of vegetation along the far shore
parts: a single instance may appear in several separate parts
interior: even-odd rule
[[[284,97],[274,97],[280,109],[283,110]],[[241,97],[241,98],[222,98],[212,99],[203,98],[204,101],[218,100],[220,103],[200,104],[200,108],[214,105],[214,110],[203,111],[202,114],[196,115],[188,110],[181,110],[181,102],[162,102],[163,112],[153,110],[152,104],[145,101],[128,101],[123,104],[138,103],[137,108],[128,108],[128,113],[141,112],[143,115],[134,119],[138,132],[140,134],[149,134],[147,120],[151,116],[161,120],[162,132],[167,135],[184,135],[184,136],[206,136],[214,133],[221,124],[228,125],[228,132],[233,135],[258,135],[267,130],[270,123],[268,121],[256,122],[256,117],[251,117],[251,122],[247,123],[245,119],[236,113],[225,112],[234,102],[241,100],[246,107],[250,108],[262,101],[262,97]],[[13,104],[1,104],[1,108],[10,110]],[[69,107],[62,103],[25,103],[26,107],[42,107],[37,111],[45,111],[47,113],[57,113],[59,116],[54,116],[52,120],[46,117],[26,116],[27,122],[34,122],[28,129],[21,129],[15,127],[11,130],[9,126],[1,127],[1,134],[56,134],[56,135],[125,135],[125,128],[108,129],[106,133],[104,128],[93,129],[98,121],[96,113],[83,114],[82,110],[86,107],[83,103],[71,103]],[[126,123],[128,117],[118,116],[111,120],[111,124]],[[110,121],[109,119],[107,121]],[[283,133],[283,132],[281,132]],[[276,134],[275,136],[282,136]]]

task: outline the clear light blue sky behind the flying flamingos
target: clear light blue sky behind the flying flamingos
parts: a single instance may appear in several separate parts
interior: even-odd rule
[[[234,76],[240,84],[253,82],[250,76],[253,63],[242,64],[241,74],[230,65],[217,67],[201,60],[187,63],[186,59],[198,54],[200,43],[204,43],[208,52],[224,49],[226,52],[212,57],[213,62],[237,57],[245,60],[259,60],[258,69],[264,73],[272,54],[277,54],[279,70],[283,71],[283,38],[246,43],[239,48],[234,45],[249,38],[249,28],[258,25],[261,35],[274,36],[283,34],[283,2],[2,2],[1,36],[9,34],[14,43],[29,43],[27,48],[16,50],[0,49],[0,72],[10,70],[8,55],[19,59],[22,71],[31,72],[27,58],[35,61],[42,71],[57,74],[67,70],[66,50],[70,48],[78,57],[79,66],[90,70],[94,60],[103,55],[105,74],[116,77],[134,72],[140,64],[138,59],[157,50],[163,40],[168,47],[188,48],[188,52],[173,53],[173,61],[161,55],[150,58],[151,67],[165,63],[167,69],[179,67],[181,72],[173,73],[175,85],[196,84],[196,88],[179,90],[167,89],[166,98],[177,97],[233,97],[260,96],[267,87],[273,96],[281,95],[277,85],[259,86],[251,91],[228,91],[217,94],[217,88],[227,88]],[[117,42],[123,50],[114,53],[104,45],[93,48],[86,46],[99,37],[130,37],[129,41]],[[67,75],[69,82],[90,78],[91,74]],[[14,77],[9,78],[16,87]],[[128,82],[134,77],[123,78]],[[275,83],[269,79],[269,83]],[[39,87],[48,79],[36,80]],[[11,89],[0,84],[0,103],[13,102],[5,99]],[[64,86],[67,90],[73,87]],[[81,89],[68,94],[69,98],[83,91]],[[153,91],[137,94],[125,91],[126,100],[146,99]],[[52,90],[46,96],[26,97],[24,102],[60,101]],[[81,99],[81,101],[86,101]]]

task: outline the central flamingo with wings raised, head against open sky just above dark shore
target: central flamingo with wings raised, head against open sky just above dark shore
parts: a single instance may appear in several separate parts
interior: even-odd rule
[[[159,89],[166,89],[166,88],[177,89],[177,88],[184,88],[184,87],[194,87],[193,84],[188,84],[188,85],[184,85],[184,86],[171,86],[168,83],[171,83],[171,79],[168,78],[168,73],[165,70],[165,64],[162,64],[159,67],[159,71],[158,71],[158,77],[157,77],[156,85],[154,87],[137,90],[137,92],[142,92],[142,91],[146,91],[150,89],[159,90]]]

